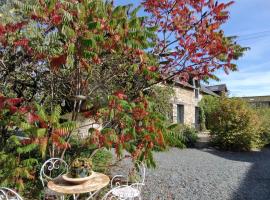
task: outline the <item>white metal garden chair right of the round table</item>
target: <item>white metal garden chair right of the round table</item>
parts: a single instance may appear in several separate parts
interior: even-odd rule
[[[110,199],[121,199],[121,200],[131,200],[131,199],[142,199],[141,191],[142,187],[145,185],[145,166],[142,162],[136,163],[137,168],[139,169],[138,177],[136,177],[135,183],[129,185],[130,177],[126,177],[126,184],[121,185],[121,178],[123,179],[123,175],[116,175],[111,180],[111,188],[112,190],[108,193],[106,198]],[[117,180],[117,181],[116,181]],[[104,197],[104,198],[105,198]]]

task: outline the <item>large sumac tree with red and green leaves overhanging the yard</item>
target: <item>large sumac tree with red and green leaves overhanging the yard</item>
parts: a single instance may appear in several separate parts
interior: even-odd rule
[[[82,113],[103,124],[91,130],[98,148],[114,147],[118,155],[127,150],[153,165],[151,150],[164,145],[166,130],[148,89],[236,69],[232,61],[245,49],[221,29],[231,4],[145,0],[146,18],[137,16],[138,9],[102,0],[9,1],[1,13],[1,88],[37,101],[48,116],[64,102],[72,120]],[[43,128],[46,142],[59,143],[46,128],[51,121],[40,117],[42,123],[29,128]],[[63,156],[72,132],[62,136]]]

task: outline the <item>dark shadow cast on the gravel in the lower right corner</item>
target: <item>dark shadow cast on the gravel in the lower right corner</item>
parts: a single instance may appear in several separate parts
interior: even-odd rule
[[[252,163],[232,200],[270,200],[270,148],[260,152],[206,151],[225,159]]]

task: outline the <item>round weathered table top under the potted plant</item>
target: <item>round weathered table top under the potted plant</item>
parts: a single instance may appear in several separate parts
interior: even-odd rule
[[[49,181],[48,188],[61,194],[82,194],[100,190],[106,187],[109,182],[110,178],[105,174],[93,172],[91,178],[84,183],[74,185],[60,177],[57,180]]]

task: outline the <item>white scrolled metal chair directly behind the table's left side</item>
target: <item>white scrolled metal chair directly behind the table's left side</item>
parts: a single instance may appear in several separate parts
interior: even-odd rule
[[[60,199],[64,199],[62,194],[58,194],[47,188],[47,183],[67,172],[68,164],[60,158],[50,158],[42,165],[39,178],[44,187],[45,197],[60,197]]]

